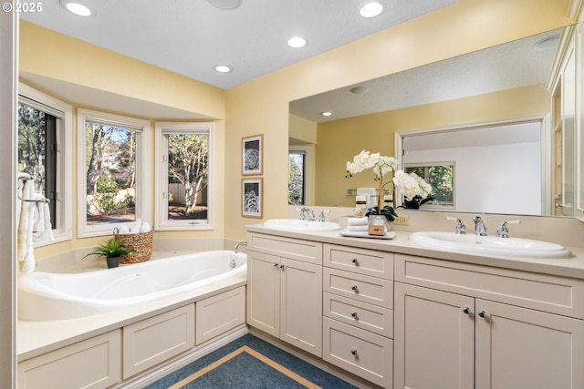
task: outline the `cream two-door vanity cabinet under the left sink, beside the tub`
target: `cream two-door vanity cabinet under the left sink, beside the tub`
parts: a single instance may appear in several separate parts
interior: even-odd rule
[[[249,233],[247,323],[322,357],[322,243]]]

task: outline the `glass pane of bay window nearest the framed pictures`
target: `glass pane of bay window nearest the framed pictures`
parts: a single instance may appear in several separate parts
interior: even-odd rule
[[[206,220],[209,135],[172,133],[168,138],[168,220]]]

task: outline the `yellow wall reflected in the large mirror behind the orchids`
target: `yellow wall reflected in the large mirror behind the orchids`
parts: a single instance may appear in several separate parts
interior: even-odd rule
[[[550,104],[551,94],[542,84],[321,123],[315,204],[350,207],[355,199],[347,189],[376,187],[371,172],[345,179],[346,162],[362,149],[395,156],[395,132],[543,115]]]

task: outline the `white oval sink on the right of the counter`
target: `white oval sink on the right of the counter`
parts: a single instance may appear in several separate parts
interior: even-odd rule
[[[431,249],[519,258],[569,258],[564,246],[547,241],[457,234],[454,232],[414,232],[410,241]]]

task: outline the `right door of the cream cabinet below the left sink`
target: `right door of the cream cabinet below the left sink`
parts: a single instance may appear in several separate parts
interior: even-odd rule
[[[322,266],[280,263],[280,339],[322,357]]]

